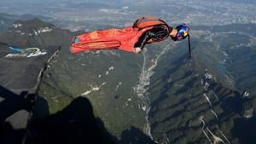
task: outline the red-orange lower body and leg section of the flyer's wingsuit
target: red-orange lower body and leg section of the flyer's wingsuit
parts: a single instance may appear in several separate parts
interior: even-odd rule
[[[137,43],[143,32],[152,29],[153,26],[139,30],[137,27],[126,27],[125,29],[110,29],[105,31],[89,32],[79,36],[79,43],[72,43],[71,52],[97,49],[121,49],[134,53],[134,44]]]

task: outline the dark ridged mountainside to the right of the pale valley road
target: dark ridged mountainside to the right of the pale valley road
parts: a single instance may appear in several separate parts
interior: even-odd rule
[[[186,48],[177,45],[154,69],[147,91],[154,140],[254,143],[254,37],[201,31],[191,36],[192,60],[187,60]]]

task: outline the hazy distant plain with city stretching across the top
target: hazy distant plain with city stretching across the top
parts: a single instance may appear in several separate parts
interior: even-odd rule
[[[255,2],[254,2],[255,1]],[[0,13],[37,14],[58,20],[109,20],[141,14],[165,17],[174,23],[224,25],[256,21],[256,0],[5,0]],[[124,10],[123,7],[129,9]]]

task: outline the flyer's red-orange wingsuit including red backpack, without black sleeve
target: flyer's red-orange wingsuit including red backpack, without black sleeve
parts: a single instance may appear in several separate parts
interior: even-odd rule
[[[135,26],[128,26],[125,29],[89,32],[73,37],[71,52],[74,54],[97,49],[121,49],[134,53],[134,45],[138,42],[139,37],[144,32],[152,30],[154,26],[164,26],[170,32],[165,21],[150,15],[143,16],[135,22]],[[158,40],[149,39],[146,43],[159,42],[166,39],[166,37],[161,37]]]

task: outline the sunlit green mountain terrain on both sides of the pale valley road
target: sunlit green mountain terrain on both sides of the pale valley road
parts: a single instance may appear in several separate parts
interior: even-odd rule
[[[122,143],[144,134],[149,136],[145,141],[160,143],[246,143],[253,142],[256,107],[255,35],[248,26],[255,29],[195,26],[192,60],[187,43],[168,40],[139,55],[119,50],[71,55],[70,39],[82,32],[38,19],[16,21],[0,39],[22,47],[62,46],[39,89],[49,106],[49,113],[39,118],[61,112],[83,96]],[[239,135],[241,130],[247,132]]]

